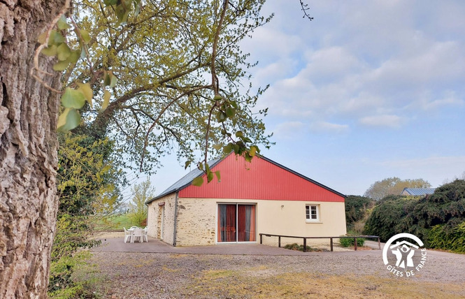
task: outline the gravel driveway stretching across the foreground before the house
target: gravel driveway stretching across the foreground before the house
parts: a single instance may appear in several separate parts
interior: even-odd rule
[[[381,251],[305,256],[94,252],[102,298],[465,298],[465,255],[396,277]]]

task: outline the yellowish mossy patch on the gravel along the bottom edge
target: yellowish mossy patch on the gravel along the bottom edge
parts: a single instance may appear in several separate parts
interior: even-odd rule
[[[257,277],[215,270],[181,292],[196,298],[463,298],[465,286],[358,275],[292,272]]]

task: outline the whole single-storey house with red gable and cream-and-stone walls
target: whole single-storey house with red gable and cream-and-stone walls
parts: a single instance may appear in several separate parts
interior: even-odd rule
[[[210,162],[216,178],[192,185],[196,169],[147,201],[148,235],[173,246],[257,242],[259,233],[345,235],[345,196],[294,170],[256,156]],[[298,242],[299,240],[294,240]],[[264,238],[264,244],[273,238]]]

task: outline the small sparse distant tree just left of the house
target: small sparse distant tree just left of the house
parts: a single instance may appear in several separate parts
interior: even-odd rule
[[[147,178],[145,182],[136,184],[131,188],[134,197],[129,203],[129,217],[136,224],[141,225],[147,219],[147,206],[145,202],[155,196],[155,188],[151,186],[150,180]]]

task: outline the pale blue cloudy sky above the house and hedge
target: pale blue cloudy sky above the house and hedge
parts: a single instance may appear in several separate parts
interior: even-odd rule
[[[465,172],[465,1],[269,0],[243,43],[276,145],[265,156],[343,194]],[[152,175],[157,194],[185,172]]]

